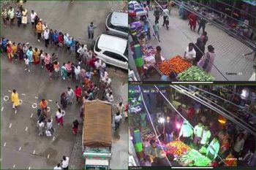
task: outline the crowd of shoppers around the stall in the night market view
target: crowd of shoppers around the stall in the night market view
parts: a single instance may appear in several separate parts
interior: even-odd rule
[[[179,101],[180,96],[175,96],[175,100]],[[146,98],[148,100],[148,98]],[[186,99],[186,101],[189,101]],[[159,101],[164,103],[164,101]],[[157,103],[159,103],[157,102]],[[211,109],[201,106],[197,102],[185,104],[185,107],[179,105],[178,112],[185,118],[181,117],[173,109],[169,109],[167,105],[159,107],[162,109],[161,114],[152,115],[154,126],[159,135],[159,140],[165,150],[165,144],[175,140],[181,140],[184,144],[198,150],[206,155],[211,164],[208,166],[255,166],[255,136],[244,129],[236,127],[230,120],[221,121],[216,116],[217,113]],[[164,118],[165,122],[159,121]],[[148,120],[146,118],[146,120]],[[157,158],[150,161],[152,166],[166,165],[165,158],[160,154],[162,148],[156,141],[151,141],[150,146],[146,150],[147,158]],[[150,150],[157,150],[156,152]],[[167,154],[167,158],[173,155]],[[181,162],[169,161],[174,166],[187,166]],[[173,164],[174,163],[174,164]]]

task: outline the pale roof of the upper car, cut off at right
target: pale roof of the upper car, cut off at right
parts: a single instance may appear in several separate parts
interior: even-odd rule
[[[128,13],[113,12],[113,15],[111,17],[111,24],[113,26],[128,27]]]

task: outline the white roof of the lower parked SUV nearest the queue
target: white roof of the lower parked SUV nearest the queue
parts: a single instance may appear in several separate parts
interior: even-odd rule
[[[125,50],[127,50],[127,41],[127,39],[118,36],[101,34],[99,36],[98,46],[101,49],[115,51],[124,55]]]

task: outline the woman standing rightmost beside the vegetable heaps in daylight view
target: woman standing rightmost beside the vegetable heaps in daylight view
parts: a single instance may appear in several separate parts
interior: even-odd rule
[[[215,55],[214,47],[212,47],[212,45],[208,45],[208,52],[203,56],[203,58],[200,59],[197,65],[205,72],[210,73],[211,67],[214,64]]]

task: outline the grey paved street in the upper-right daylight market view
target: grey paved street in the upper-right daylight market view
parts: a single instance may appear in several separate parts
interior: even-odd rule
[[[149,12],[149,18],[151,25],[154,25],[154,11]],[[162,47],[162,55],[170,59],[176,55],[184,55],[184,51],[188,46],[189,42],[196,42],[197,37],[200,37],[200,34],[197,34],[196,31],[191,31],[188,26],[188,20],[182,20],[178,17],[178,9],[173,7],[170,12],[170,28],[167,30],[162,26],[163,18],[159,19],[159,36],[160,42],[157,42],[157,39],[152,36],[151,41],[149,42],[153,47],[160,45]],[[213,67],[211,70],[211,75],[216,78],[216,81],[248,81],[252,74],[255,72],[255,67],[253,66],[254,55],[247,55],[246,58],[243,58],[243,54],[252,52],[252,49],[246,45],[239,42],[237,39],[229,36],[224,31],[219,28],[206,25],[206,31],[208,33],[208,42],[207,46],[213,45],[215,48],[216,58],[214,65],[219,69],[219,72],[216,68]],[[151,28],[151,35],[152,35]],[[226,79],[225,79],[226,77]]]

